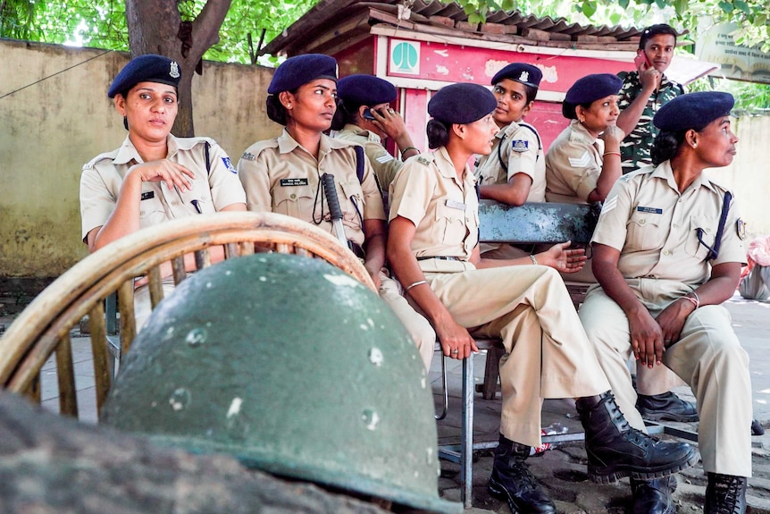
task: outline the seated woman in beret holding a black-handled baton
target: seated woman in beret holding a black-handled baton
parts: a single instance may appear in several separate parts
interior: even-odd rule
[[[348,246],[364,259],[381,298],[406,326],[429,368],[436,335],[384,268],[387,222],[372,166],[363,152],[356,155],[356,145],[323,133],[337,110],[337,61],[320,54],[290,57],[273,74],[267,92],[267,115],[284,130],[248,147],[239,160],[248,210],[289,215],[334,234],[321,181],[324,173],[334,175]]]

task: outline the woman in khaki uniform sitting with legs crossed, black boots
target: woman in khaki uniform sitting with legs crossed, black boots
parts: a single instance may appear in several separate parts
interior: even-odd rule
[[[667,475],[697,460],[688,444],[655,442],[632,430],[554,267],[568,257],[555,246],[534,259],[484,259],[478,249],[473,154],[489,154],[498,104],[487,88],[454,84],[431,97],[429,155],[406,161],[391,185],[388,256],[411,299],[436,328],[444,354],[467,358],[473,335],[500,337],[503,409],[490,492],[514,512],[555,512],[524,463],[540,444],[545,398],[578,398],[589,474]],[[535,262],[537,261],[537,262]]]

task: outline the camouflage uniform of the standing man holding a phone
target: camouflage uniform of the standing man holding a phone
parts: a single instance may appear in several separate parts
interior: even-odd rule
[[[632,104],[641,92],[639,72],[620,72],[617,74],[623,80],[623,86],[618,93],[617,107],[621,112]],[[652,141],[657,136],[657,128],[652,124],[652,117],[657,110],[674,97],[684,94],[681,84],[668,80],[664,75],[660,81],[657,93],[649,96],[644,112],[641,114],[636,127],[620,143],[620,159],[623,174],[638,170],[641,166],[652,164],[649,151],[652,149]]]

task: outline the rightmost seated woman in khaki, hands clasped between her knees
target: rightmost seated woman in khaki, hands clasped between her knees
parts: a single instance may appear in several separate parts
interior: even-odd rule
[[[728,93],[699,92],[657,112],[656,167],[624,175],[607,197],[592,239],[599,286],[580,310],[632,426],[644,430],[626,367],[631,355],[638,366],[671,368],[692,387],[706,514],[743,512],[751,476],[749,358],[721,305],[745,263],[743,226],[732,194],[703,173],[735,156],[732,105]],[[644,485],[655,506],[648,511],[668,511],[669,487],[659,482]]]

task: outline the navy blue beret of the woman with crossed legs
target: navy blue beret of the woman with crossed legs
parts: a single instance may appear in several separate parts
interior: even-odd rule
[[[498,106],[492,92],[479,84],[460,82],[436,91],[428,102],[428,114],[445,123],[472,123]]]

